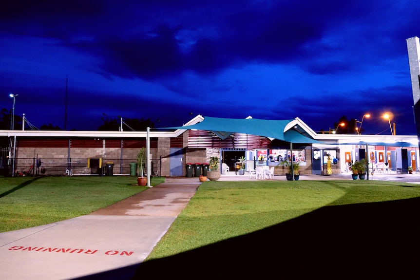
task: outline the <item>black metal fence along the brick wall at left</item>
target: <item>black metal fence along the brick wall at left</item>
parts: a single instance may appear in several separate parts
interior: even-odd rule
[[[88,159],[19,158],[11,163],[10,176],[137,176],[135,159],[107,159],[98,165],[89,165]],[[12,171],[13,174],[12,174]],[[144,168],[145,173],[147,165]],[[151,161],[151,175],[160,177],[161,159]]]

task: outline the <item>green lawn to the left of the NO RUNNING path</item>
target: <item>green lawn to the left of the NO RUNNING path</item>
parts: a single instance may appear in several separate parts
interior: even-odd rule
[[[0,232],[50,224],[141,192],[137,177],[0,177]],[[164,182],[152,178],[151,185]]]

